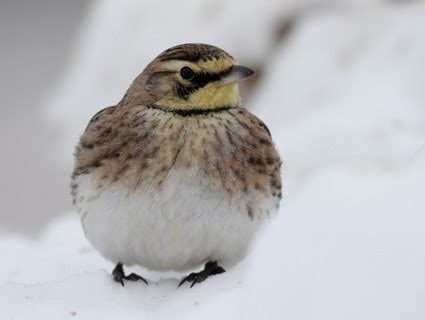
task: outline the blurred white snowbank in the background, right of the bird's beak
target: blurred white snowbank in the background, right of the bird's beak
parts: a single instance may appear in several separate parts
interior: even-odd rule
[[[424,4],[306,16],[277,49],[250,105],[295,183],[342,163],[398,170],[423,152],[424,18]]]

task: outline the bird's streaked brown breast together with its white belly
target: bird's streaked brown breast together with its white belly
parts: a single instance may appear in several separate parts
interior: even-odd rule
[[[131,131],[82,158],[88,173],[73,183],[93,246],[157,270],[241,259],[278,205],[264,144],[230,114],[134,119],[134,129],[128,123]]]

